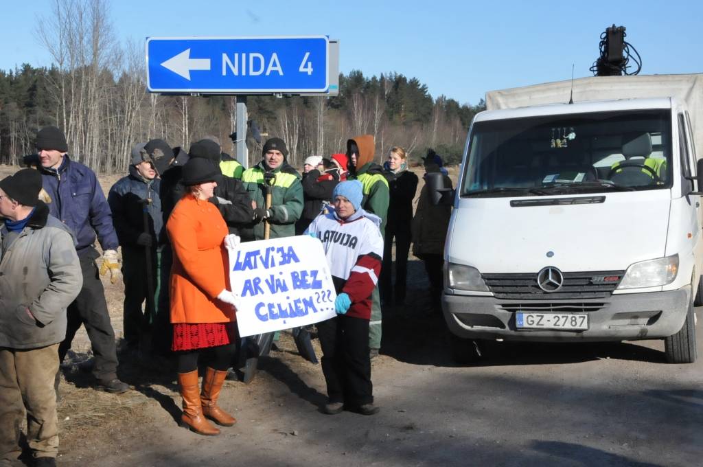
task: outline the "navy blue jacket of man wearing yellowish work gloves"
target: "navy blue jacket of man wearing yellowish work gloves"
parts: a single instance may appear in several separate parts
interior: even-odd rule
[[[65,155],[58,170],[42,167],[41,179],[51,196],[49,212],[74,233],[79,255],[95,243],[96,233],[103,250],[117,249],[112,213],[95,172]]]

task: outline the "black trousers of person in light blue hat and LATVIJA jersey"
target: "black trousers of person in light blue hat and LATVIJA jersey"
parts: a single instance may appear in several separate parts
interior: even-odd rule
[[[350,407],[373,403],[368,319],[339,315],[318,323],[317,331],[329,401]]]

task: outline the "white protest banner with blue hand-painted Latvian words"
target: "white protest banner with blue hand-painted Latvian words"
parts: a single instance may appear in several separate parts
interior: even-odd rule
[[[228,254],[230,284],[240,296],[240,336],[335,316],[337,294],[318,239],[303,235],[240,243]]]

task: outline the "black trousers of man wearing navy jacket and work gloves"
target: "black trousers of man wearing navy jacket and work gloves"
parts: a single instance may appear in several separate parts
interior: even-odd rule
[[[98,380],[108,381],[117,378],[115,331],[110,323],[108,304],[105,302],[105,289],[94,261],[98,257],[98,252],[92,248],[90,250],[79,255],[83,287],[76,300],[68,305],[66,338],[58,346],[58,361],[63,362],[71,348],[76,331],[83,324],[95,356],[93,375]]]

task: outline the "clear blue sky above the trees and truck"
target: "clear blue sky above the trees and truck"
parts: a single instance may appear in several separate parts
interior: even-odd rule
[[[0,69],[50,65],[35,36],[53,0],[3,0]],[[432,96],[477,103],[486,91],[590,76],[613,23],[643,58],[642,74],[703,72],[703,1],[113,0],[119,39],[328,34],[340,71],[396,71]]]

